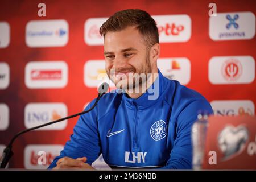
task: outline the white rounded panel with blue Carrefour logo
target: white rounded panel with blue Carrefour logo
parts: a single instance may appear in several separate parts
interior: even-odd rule
[[[26,26],[28,47],[59,47],[68,43],[68,22],[65,20],[32,20]]]

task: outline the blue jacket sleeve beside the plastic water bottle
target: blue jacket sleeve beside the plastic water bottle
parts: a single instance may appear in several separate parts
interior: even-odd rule
[[[166,166],[160,169],[191,169],[192,168],[192,140],[191,129],[193,123],[197,120],[199,110],[207,110],[213,114],[212,107],[207,100],[201,99],[190,102],[180,112],[176,120],[176,134],[170,159]]]

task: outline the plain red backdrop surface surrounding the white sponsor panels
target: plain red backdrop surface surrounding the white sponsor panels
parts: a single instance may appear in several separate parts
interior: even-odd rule
[[[10,84],[0,90],[0,102],[9,107],[9,127],[0,131],[0,144],[7,145],[24,125],[24,108],[31,102],[62,102],[68,115],[82,110],[96,97],[96,88],[84,84],[84,64],[102,60],[103,46],[84,41],[84,23],[89,18],[104,18],[123,9],[143,9],[151,15],[187,14],[191,18],[191,38],[187,42],[161,43],[160,57],[187,57],[191,61],[191,79],[186,86],[195,89],[209,102],[213,100],[250,100],[256,103],[256,82],[249,84],[212,84],[208,64],[213,56],[249,55],[256,57],[255,36],[249,40],[213,41],[209,36],[208,5],[212,1],[43,1],[46,17],[38,16],[42,1],[1,1],[0,22],[10,25],[10,44],[0,48],[0,61],[10,67]],[[217,12],[251,11],[255,1],[214,1]],[[65,19],[69,24],[68,43],[62,47],[28,47],[26,24],[30,20]],[[255,23],[254,23],[255,26]],[[1,34],[1,32],[0,32]],[[25,84],[25,67],[30,61],[63,60],[68,64],[68,82],[61,89],[30,89]],[[255,69],[255,68],[254,68]],[[254,111],[253,111],[254,112]],[[28,144],[62,144],[72,134],[77,118],[69,119],[64,130],[32,131],[16,140],[10,168],[24,168],[24,148]]]

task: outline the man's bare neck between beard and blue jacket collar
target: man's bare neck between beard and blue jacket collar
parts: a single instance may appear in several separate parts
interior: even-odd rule
[[[150,88],[150,86],[155,82],[156,78],[158,77],[158,70],[156,70],[156,72],[151,73],[151,76],[149,78],[147,78],[147,81],[145,81],[142,84],[139,84],[139,89],[135,88],[133,90],[126,90],[127,95],[130,98],[139,98],[142,96],[143,93],[145,93],[147,91],[148,88]],[[139,92],[135,92],[135,90],[139,90]]]

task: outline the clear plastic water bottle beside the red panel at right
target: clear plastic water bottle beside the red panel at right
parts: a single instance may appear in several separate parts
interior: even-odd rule
[[[205,139],[208,128],[208,113],[199,113],[192,126],[193,170],[200,170],[204,160]]]

